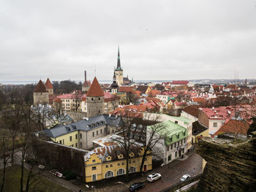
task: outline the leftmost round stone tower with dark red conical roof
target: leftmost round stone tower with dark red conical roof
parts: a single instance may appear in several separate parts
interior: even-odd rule
[[[39,80],[36,88],[34,88],[34,105],[49,104],[49,92],[46,90],[42,80]]]

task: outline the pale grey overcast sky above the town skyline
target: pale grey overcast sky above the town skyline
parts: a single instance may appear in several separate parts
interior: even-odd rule
[[[0,0],[0,81],[255,78],[256,0]]]

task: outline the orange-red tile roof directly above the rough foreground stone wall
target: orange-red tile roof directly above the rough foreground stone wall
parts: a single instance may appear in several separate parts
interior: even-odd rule
[[[217,136],[219,134],[247,134],[247,131],[249,129],[249,123],[247,123],[244,120],[229,120],[227,123],[225,123],[219,130],[212,136]]]

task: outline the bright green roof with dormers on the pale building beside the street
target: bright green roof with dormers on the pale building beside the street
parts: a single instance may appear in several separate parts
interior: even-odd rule
[[[162,125],[165,126],[165,128],[159,131],[158,134],[166,135],[165,145],[171,145],[174,142],[187,138],[187,128],[179,126],[177,123],[173,123],[170,120],[162,122]],[[148,126],[148,128],[151,128],[151,126]]]

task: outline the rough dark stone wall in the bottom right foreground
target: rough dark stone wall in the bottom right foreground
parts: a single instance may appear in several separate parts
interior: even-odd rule
[[[256,191],[256,137],[205,137],[196,153],[207,161],[197,191]]]

